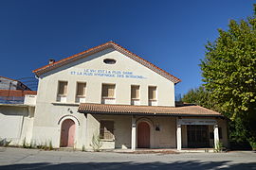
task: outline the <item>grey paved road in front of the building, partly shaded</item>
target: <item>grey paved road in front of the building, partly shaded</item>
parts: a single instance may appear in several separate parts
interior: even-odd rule
[[[0,147],[0,169],[254,169],[255,152],[131,154]]]

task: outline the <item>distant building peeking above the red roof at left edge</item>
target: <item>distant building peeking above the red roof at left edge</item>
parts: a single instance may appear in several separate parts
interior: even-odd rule
[[[24,83],[19,80],[5,76],[0,76],[0,90],[22,90],[31,91]]]

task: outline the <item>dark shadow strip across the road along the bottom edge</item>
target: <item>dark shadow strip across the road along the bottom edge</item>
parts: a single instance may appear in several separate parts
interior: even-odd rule
[[[11,165],[0,165],[0,169],[247,169],[255,170],[256,162],[247,163],[232,163],[231,161],[174,161],[174,162],[134,162],[134,161],[113,161],[113,162],[64,162],[64,163],[49,163],[49,162],[38,162],[38,163],[20,163]]]

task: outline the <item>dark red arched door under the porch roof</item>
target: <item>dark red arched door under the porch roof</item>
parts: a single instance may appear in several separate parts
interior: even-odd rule
[[[150,126],[146,122],[140,122],[137,125],[137,147],[150,147]]]

